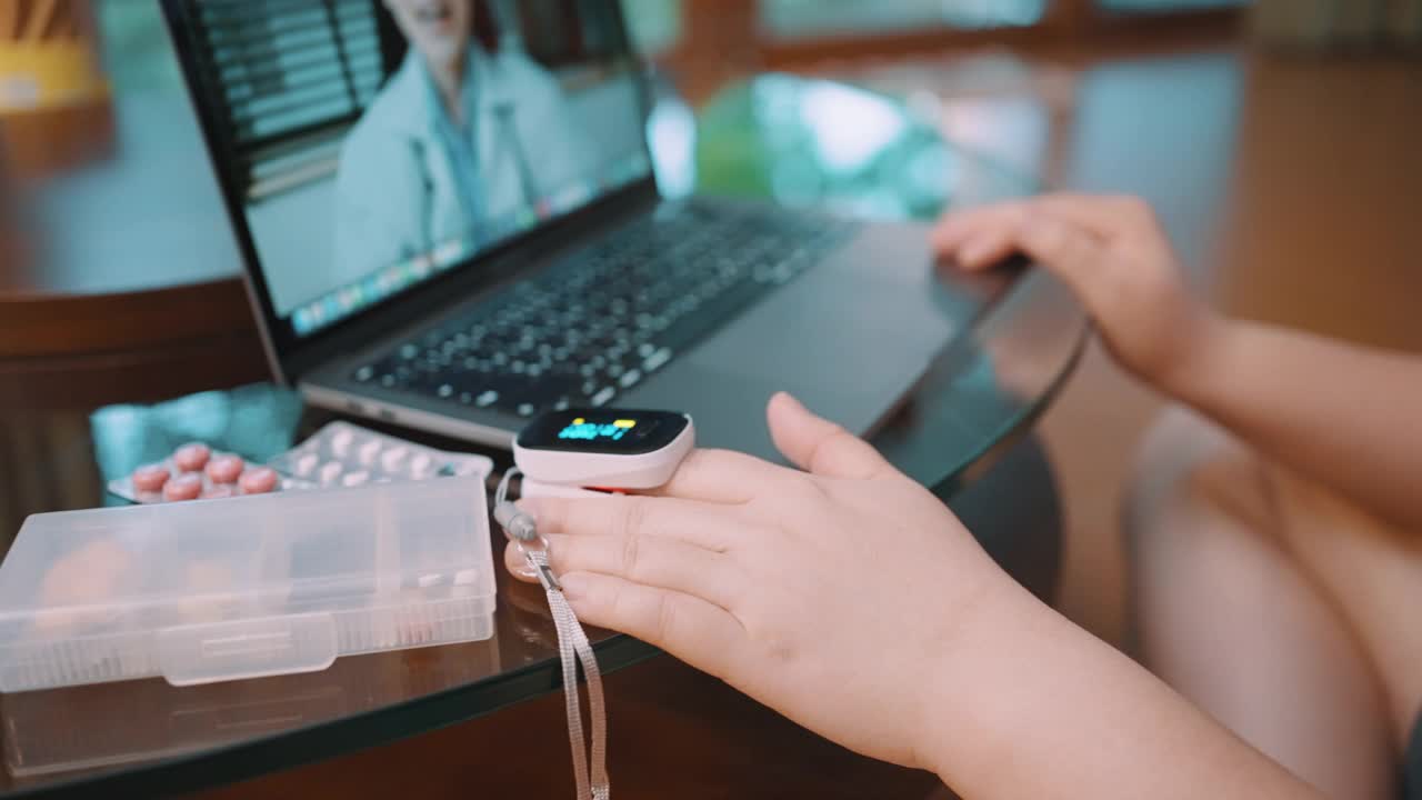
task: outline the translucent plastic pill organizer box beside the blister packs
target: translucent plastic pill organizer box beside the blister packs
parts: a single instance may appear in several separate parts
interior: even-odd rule
[[[488,639],[493,595],[479,478],[37,514],[0,565],[0,692]]]

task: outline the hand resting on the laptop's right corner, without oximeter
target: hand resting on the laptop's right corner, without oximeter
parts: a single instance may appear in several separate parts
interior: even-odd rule
[[[1136,198],[1044,195],[950,214],[933,235],[964,269],[1021,252],[1061,278],[1126,369],[1179,393],[1210,357],[1221,320],[1190,295],[1170,242]]]

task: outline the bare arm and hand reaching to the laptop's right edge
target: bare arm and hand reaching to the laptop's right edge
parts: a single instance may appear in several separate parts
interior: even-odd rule
[[[967,268],[1028,253],[1075,290],[1122,366],[1422,530],[1422,359],[1221,319],[1190,296],[1150,209],[1130,198],[1049,195],[954,215],[937,243]]]

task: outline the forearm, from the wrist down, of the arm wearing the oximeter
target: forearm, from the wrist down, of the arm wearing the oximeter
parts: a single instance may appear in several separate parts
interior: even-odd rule
[[[964,797],[1313,799],[1287,770],[1017,586],[931,689],[930,752]]]

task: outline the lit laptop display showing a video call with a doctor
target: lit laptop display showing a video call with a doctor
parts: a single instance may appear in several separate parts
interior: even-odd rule
[[[272,312],[309,336],[650,174],[616,0],[179,0]]]

